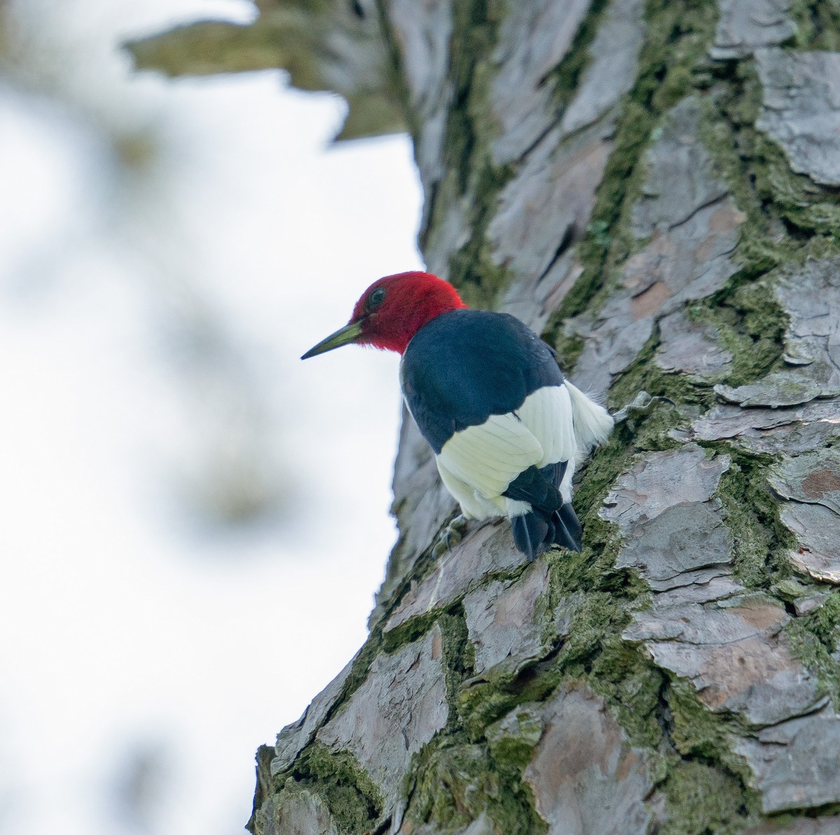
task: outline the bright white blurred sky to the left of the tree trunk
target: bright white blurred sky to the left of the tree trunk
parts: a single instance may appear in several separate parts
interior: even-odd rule
[[[343,105],[274,72],[169,82],[116,53],[123,34],[242,19],[243,3],[60,8],[95,47],[68,72],[102,73],[171,161],[165,204],[114,226],[124,184],[95,170],[92,132],[0,87],[0,835],[126,831],[109,790],[142,744],[168,775],[153,831],[228,835],[255,748],[364,640],[394,540],[396,356],[297,358],[370,281],[420,265],[411,151],[327,150]],[[150,272],[183,263],[254,360],[296,496],[285,525],[199,531],[173,498],[192,426]]]

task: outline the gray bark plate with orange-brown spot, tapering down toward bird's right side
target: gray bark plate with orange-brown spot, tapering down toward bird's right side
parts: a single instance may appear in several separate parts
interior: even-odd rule
[[[665,119],[633,208],[633,235],[648,243],[627,260],[622,285],[595,321],[584,317],[573,325],[585,338],[573,381],[588,391],[606,391],[659,318],[719,290],[737,269],[729,255],[743,215],[698,139],[700,107],[686,98]]]

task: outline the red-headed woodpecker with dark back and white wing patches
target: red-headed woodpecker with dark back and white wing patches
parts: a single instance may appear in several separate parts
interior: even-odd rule
[[[465,519],[507,517],[532,562],[554,544],[580,551],[572,475],[613,418],[564,378],[536,333],[415,270],[374,281],[349,323],[301,359],[351,343],[402,354],[408,412]]]

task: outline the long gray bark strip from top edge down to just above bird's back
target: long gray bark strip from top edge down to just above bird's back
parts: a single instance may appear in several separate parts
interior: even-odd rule
[[[614,0],[607,8],[575,97],[502,190],[487,230],[496,264],[517,276],[499,309],[537,332],[580,276],[572,244],[589,223],[612,150],[616,105],[636,75],[642,7],[641,0]]]

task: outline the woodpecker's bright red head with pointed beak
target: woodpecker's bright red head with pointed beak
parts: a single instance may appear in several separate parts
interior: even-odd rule
[[[319,342],[302,359],[350,342],[402,354],[424,324],[458,307],[466,305],[455,288],[438,276],[428,272],[386,276],[365,290],[346,327]]]

